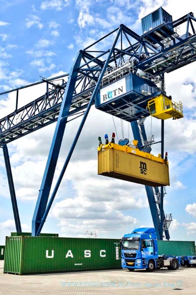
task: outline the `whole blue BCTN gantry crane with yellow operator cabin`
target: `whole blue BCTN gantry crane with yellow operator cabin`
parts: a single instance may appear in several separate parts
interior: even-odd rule
[[[93,104],[101,111],[130,122],[141,150],[152,144],[152,140],[148,141],[146,137],[144,119],[149,115],[160,118],[161,156],[164,158],[164,119],[167,116],[183,117],[181,105],[173,103],[171,97],[166,95],[164,73],[196,60],[196,18],[190,12],[173,21],[172,16],[160,7],[141,22],[141,36],[120,25],[81,50],[69,74],[51,79],[43,78],[38,83],[0,93],[16,93],[15,111],[0,119],[0,147],[3,149],[17,232],[21,232],[21,225],[7,149],[10,142],[56,122],[32,218],[32,236],[39,236],[42,230]],[[179,26],[182,24],[186,24],[186,31],[180,35]],[[112,37],[110,49],[105,49],[104,44],[111,42]],[[21,89],[41,83],[46,86],[43,95],[18,108]],[[160,115],[158,108],[160,111],[161,107]],[[66,124],[79,116],[82,116],[81,124],[49,200]],[[165,215],[163,210],[164,187],[160,190],[158,187],[145,188],[156,235],[158,239],[163,239],[165,232],[169,239],[171,214]]]

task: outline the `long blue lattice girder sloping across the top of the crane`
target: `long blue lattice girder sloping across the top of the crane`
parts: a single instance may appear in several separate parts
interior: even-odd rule
[[[173,24],[176,27],[181,23],[190,22],[190,20],[196,20],[192,12],[174,21]],[[153,42],[148,38],[148,33],[140,36],[124,25],[121,25],[121,27],[119,48],[113,50],[108,64],[109,67],[112,67],[114,62],[119,65],[125,59],[132,59],[137,69],[148,72],[154,77],[160,76],[162,78],[165,72],[171,72],[176,68],[196,60],[196,33],[185,39],[180,38],[178,35],[175,35],[175,37],[171,36],[172,40],[175,40],[175,42],[172,41],[174,44],[170,47],[163,48],[163,46],[158,47],[155,44],[156,41]],[[109,52],[109,50],[92,50],[92,46],[98,45],[100,47],[102,40],[111,36],[116,30],[113,30],[84,49],[82,56],[83,63],[79,67],[77,83],[73,92],[72,114],[77,114],[80,110],[87,107],[92,91],[105,64],[106,60],[104,57]],[[186,35],[188,35],[187,32]],[[129,46],[124,48],[124,43],[127,43]],[[145,58],[141,58],[142,55],[145,55]],[[68,74],[65,74],[64,76],[43,79],[41,82],[32,84],[31,86],[45,83],[46,92],[20,109],[17,107],[17,100],[20,90],[25,87],[14,89],[16,91],[16,109],[11,114],[0,119],[0,146],[3,143],[9,143],[57,120],[64,94],[63,89],[66,88],[67,77]],[[59,78],[62,78],[61,84],[56,82]],[[50,90],[49,85],[51,82],[56,86],[53,86],[53,89]],[[13,90],[0,94],[6,94],[11,91]]]

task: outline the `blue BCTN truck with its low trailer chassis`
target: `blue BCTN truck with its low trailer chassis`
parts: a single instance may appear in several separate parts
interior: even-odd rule
[[[196,256],[158,255],[155,229],[139,228],[121,239],[121,265],[129,271],[144,268],[154,271],[162,267],[176,270],[179,266],[196,267]]]

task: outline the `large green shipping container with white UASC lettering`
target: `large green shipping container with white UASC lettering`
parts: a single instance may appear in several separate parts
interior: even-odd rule
[[[6,237],[4,273],[121,268],[120,240],[69,237]]]

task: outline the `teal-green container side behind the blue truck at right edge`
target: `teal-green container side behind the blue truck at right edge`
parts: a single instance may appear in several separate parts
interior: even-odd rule
[[[195,256],[195,242],[158,240],[158,254],[175,256]]]

